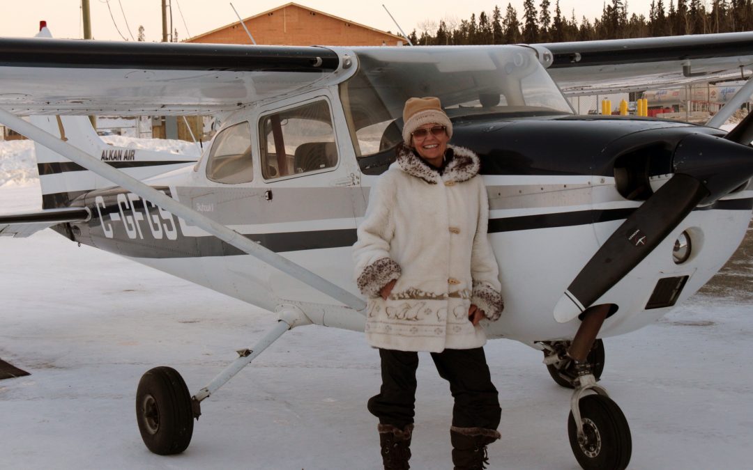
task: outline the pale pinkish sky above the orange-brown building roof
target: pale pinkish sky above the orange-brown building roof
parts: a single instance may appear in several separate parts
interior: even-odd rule
[[[3,3],[6,2],[8,0]],[[172,25],[178,30],[178,39],[197,36],[238,20],[233,8],[230,7],[230,1],[168,0],[168,3],[170,2],[172,2]],[[476,14],[478,17],[481,11],[486,11],[491,15],[495,5],[499,6],[504,15],[508,2],[509,0],[501,2],[490,0],[464,0],[462,2],[458,0],[412,0],[411,2],[300,0],[296,3],[372,28],[398,32],[395,23],[382,7],[386,5],[406,34],[410,34],[413,29],[420,34],[421,26],[427,20],[438,21],[444,18],[468,20],[471,14]],[[551,0],[552,10],[555,2],[556,0]],[[233,5],[242,18],[252,17],[285,5],[285,3],[287,3],[285,0],[233,1]],[[523,0],[513,0],[509,3],[517,10],[518,17],[522,17]],[[535,3],[538,5],[541,0],[535,0]],[[629,14],[648,16],[648,5],[651,0],[629,0],[627,3]],[[593,21],[593,18],[601,16],[603,4],[602,0],[560,0],[559,8],[566,17],[570,17],[575,9],[575,17],[578,20],[585,16]],[[144,26],[147,41],[160,41],[162,38],[160,5],[160,0],[90,0],[93,37],[113,41],[122,41],[123,38],[127,38],[133,41],[141,25]],[[40,20],[47,21],[47,26],[56,38],[83,38],[81,0],[14,2],[12,9],[0,15],[0,37],[23,38],[35,35]]]

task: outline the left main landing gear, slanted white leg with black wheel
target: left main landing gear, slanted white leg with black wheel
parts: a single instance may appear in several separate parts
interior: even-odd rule
[[[149,450],[160,455],[186,450],[194,434],[194,418],[198,420],[201,415],[200,402],[230,381],[283,333],[294,326],[311,323],[302,311],[286,307],[275,326],[255,344],[254,349],[239,350],[238,359],[194,396],[188,393],[183,378],[174,368],[155,367],[142,376],[136,390],[136,420]]]

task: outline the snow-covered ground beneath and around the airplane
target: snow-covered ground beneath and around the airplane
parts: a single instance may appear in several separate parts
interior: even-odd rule
[[[6,161],[5,145],[0,165],[23,167]],[[38,205],[35,177],[4,168],[0,177],[15,182],[0,187],[0,214]],[[32,373],[0,381],[0,467],[380,468],[365,407],[379,359],[360,334],[286,333],[203,402],[186,452],[156,456],[136,426],[141,375],[171,365],[196,393],[276,317],[50,230],[0,239],[0,260],[0,358]],[[697,295],[605,341],[602,384],[630,423],[630,468],[750,467],[753,307],[744,299]],[[567,437],[570,392],[551,381],[541,353],[505,340],[486,353],[503,409],[492,468],[579,468]],[[452,403],[428,355],[418,397],[413,468],[450,468]]]

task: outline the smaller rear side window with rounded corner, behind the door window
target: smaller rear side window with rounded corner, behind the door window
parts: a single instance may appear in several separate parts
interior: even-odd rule
[[[206,177],[218,183],[248,183],[254,179],[254,160],[251,155],[251,126],[239,123],[215,136]]]

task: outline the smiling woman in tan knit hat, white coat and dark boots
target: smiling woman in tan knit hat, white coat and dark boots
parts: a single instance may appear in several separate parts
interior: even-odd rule
[[[358,288],[369,298],[366,338],[382,363],[368,409],[380,420],[384,467],[409,468],[417,352],[430,352],[455,399],[455,468],[483,468],[501,409],[479,323],[503,308],[486,188],[478,157],[448,144],[453,124],[439,99],[409,99],[403,120],[397,161],[372,188],[353,247]]]

